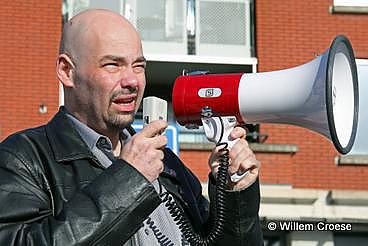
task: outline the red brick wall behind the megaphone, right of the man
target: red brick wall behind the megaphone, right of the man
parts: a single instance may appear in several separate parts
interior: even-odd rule
[[[368,58],[368,15],[330,14],[332,0],[256,0],[258,71],[290,68],[329,48],[337,34],[346,35],[358,58]],[[368,189],[368,166],[337,166],[338,153],[325,138],[286,125],[261,125],[266,143],[295,144],[297,153],[256,153],[261,182],[299,188]],[[206,154],[204,154],[206,153]],[[202,180],[209,152],[182,151],[181,157]],[[198,163],[198,164],[197,164]]]

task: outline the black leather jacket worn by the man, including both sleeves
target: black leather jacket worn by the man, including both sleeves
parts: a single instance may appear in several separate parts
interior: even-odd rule
[[[209,206],[198,179],[169,150],[164,163],[161,183],[203,233]],[[160,202],[129,163],[104,168],[63,110],[0,144],[0,245],[122,245]],[[219,245],[261,245],[258,182],[227,202]]]

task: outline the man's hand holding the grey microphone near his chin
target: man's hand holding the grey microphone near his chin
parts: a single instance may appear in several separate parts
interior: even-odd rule
[[[125,144],[119,156],[134,166],[150,182],[157,179],[164,169],[162,149],[167,144],[167,138],[160,134],[166,127],[167,122],[163,120],[146,125]]]

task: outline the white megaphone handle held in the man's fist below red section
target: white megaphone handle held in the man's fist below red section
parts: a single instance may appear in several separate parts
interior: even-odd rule
[[[202,117],[203,129],[207,139],[216,144],[227,144],[230,150],[239,139],[230,140],[231,131],[236,126],[235,116],[221,116],[221,117]],[[234,173],[230,176],[232,182],[236,183],[247,175],[248,171],[244,173]]]

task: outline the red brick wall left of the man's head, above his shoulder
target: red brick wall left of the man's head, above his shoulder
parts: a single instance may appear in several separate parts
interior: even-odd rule
[[[61,0],[0,5],[0,140],[46,122],[57,110],[60,30]],[[41,104],[48,113],[39,113]]]

